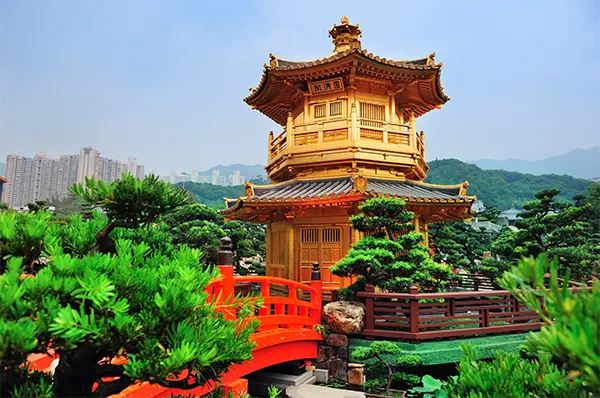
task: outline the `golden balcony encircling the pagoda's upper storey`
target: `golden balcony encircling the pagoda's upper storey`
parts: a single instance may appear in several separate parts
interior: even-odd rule
[[[291,129],[290,129],[291,127]],[[288,130],[291,130],[289,132]],[[427,170],[425,137],[414,124],[372,119],[331,118],[288,125],[269,136],[267,174],[281,181],[287,170],[349,162],[383,163]]]

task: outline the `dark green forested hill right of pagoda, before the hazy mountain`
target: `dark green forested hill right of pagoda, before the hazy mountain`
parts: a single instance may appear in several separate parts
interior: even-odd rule
[[[535,176],[515,171],[483,170],[474,164],[457,159],[442,159],[429,162],[426,182],[432,184],[458,184],[469,181],[469,195],[477,195],[486,207],[496,206],[502,210],[519,207],[533,199],[541,189],[560,189],[563,200],[583,193],[591,181],[568,175],[546,174]]]

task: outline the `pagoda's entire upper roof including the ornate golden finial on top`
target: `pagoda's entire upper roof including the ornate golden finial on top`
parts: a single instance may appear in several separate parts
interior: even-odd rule
[[[334,38],[332,54],[314,60],[288,60],[270,54],[256,88],[244,101],[280,125],[287,114],[296,108],[305,94],[308,83],[342,77],[345,86],[360,79],[378,82],[386,93],[395,93],[402,104],[405,118],[419,117],[445,104],[450,98],[444,93],[440,73],[442,63],[435,63],[435,53],[413,60],[391,60],[362,49],[358,25],[342,19],[329,31]]]

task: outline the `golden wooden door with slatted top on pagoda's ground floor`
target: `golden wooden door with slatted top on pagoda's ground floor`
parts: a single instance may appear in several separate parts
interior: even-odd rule
[[[342,287],[341,278],[331,273],[331,267],[343,256],[341,227],[303,227],[298,230],[299,250],[299,280],[310,283],[313,262],[321,266],[323,290],[330,292]]]

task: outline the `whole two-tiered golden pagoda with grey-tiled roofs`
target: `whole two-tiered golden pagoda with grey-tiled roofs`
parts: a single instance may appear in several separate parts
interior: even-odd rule
[[[312,61],[270,55],[244,101],[282,126],[269,134],[267,176],[226,199],[230,220],[267,225],[267,273],[308,283],[321,264],[324,291],[347,286],[330,268],[361,236],[351,215],[372,197],[398,197],[416,215],[415,229],[468,218],[468,183],[424,183],[425,135],[416,119],[449,98],[435,54],[410,61],[373,55],[361,30],[344,17],[329,31],[334,50]]]

